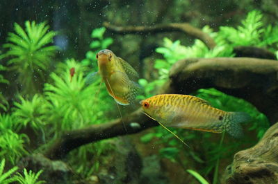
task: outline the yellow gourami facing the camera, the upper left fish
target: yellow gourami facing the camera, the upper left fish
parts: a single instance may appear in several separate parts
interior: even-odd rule
[[[135,100],[140,86],[133,82],[130,77],[138,77],[138,73],[124,59],[117,57],[111,50],[104,49],[97,53],[97,65],[99,71],[88,76],[87,80],[101,76],[106,89],[114,100],[121,105],[129,105]],[[87,82],[90,83],[90,82]]]

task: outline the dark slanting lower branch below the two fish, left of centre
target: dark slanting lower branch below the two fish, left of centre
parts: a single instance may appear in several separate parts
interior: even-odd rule
[[[123,119],[126,129],[124,129],[121,119],[113,120],[99,125],[91,125],[83,129],[67,131],[61,138],[58,138],[45,152],[44,156],[57,160],[63,158],[68,152],[77,147],[127,134],[135,134],[149,127],[158,126],[158,123],[145,116],[140,109],[131,113]]]

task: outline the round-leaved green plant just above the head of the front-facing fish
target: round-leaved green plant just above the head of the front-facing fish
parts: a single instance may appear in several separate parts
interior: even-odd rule
[[[101,49],[108,48],[111,44],[113,44],[113,38],[104,37],[104,33],[106,28],[95,28],[92,30],[91,37],[94,39],[90,43],[90,48],[92,50],[88,51],[85,55],[85,59],[81,61],[81,63],[85,66],[90,66],[91,64],[97,63],[96,55]]]

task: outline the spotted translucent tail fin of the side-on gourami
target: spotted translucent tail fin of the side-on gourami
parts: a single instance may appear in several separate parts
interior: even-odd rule
[[[224,119],[224,129],[235,138],[243,137],[243,127],[240,122],[247,122],[251,118],[249,114],[244,112],[229,112],[229,115]]]

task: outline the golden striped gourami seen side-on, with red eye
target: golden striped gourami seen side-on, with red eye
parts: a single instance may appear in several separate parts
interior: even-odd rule
[[[222,111],[211,107],[206,100],[191,95],[154,95],[140,101],[140,104],[144,113],[163,127],[214,133],[227,131],[235,138],[243,136],[239,123],[250,120],[247,113]]]

